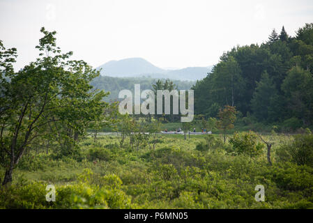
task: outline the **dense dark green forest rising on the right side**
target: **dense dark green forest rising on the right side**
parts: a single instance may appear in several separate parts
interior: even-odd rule
[[[247,122],[313,125],[313,23],[291,37],[284,26],[261,45],[234,47],[194,89],[195,114],[236,106]],[[247,124],[247,123],[246,123]]]

